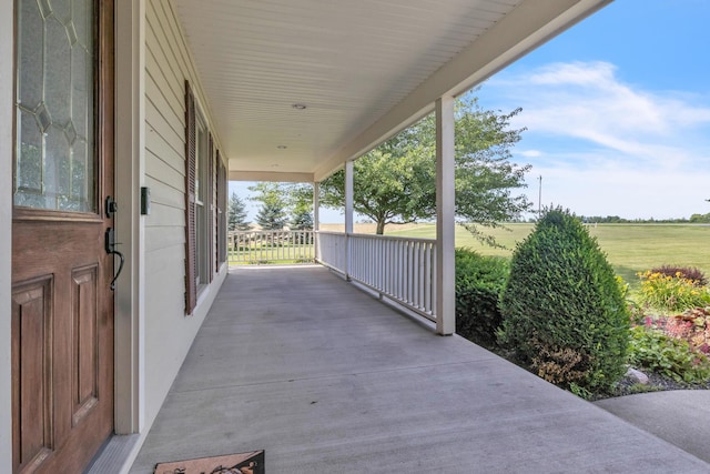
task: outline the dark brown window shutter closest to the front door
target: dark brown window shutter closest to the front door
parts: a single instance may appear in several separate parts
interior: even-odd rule
[[[192,314],[197,304],[196,222],[195,222],[195,159],[196,159],[195,99],[185,81],[185,314]]]

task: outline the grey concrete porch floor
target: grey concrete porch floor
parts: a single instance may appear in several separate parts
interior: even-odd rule
[[[320,266],[233,269],[131,473],[708,473],[684,451]]]

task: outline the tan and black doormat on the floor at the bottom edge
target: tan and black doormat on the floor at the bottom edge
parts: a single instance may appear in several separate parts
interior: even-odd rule
[[[160,463],[154,474],[265,474],[264,451]]]

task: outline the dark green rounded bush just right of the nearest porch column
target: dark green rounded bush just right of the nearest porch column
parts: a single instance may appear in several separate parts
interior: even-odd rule
[[[456,250],[456,332],[477,344],[496,343],[498,299],[508,278],[508,260]]]

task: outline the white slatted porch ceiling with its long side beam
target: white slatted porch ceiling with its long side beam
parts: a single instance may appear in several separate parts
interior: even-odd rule
[[[317,181],[609,1],[173,3],[230,178]]]

